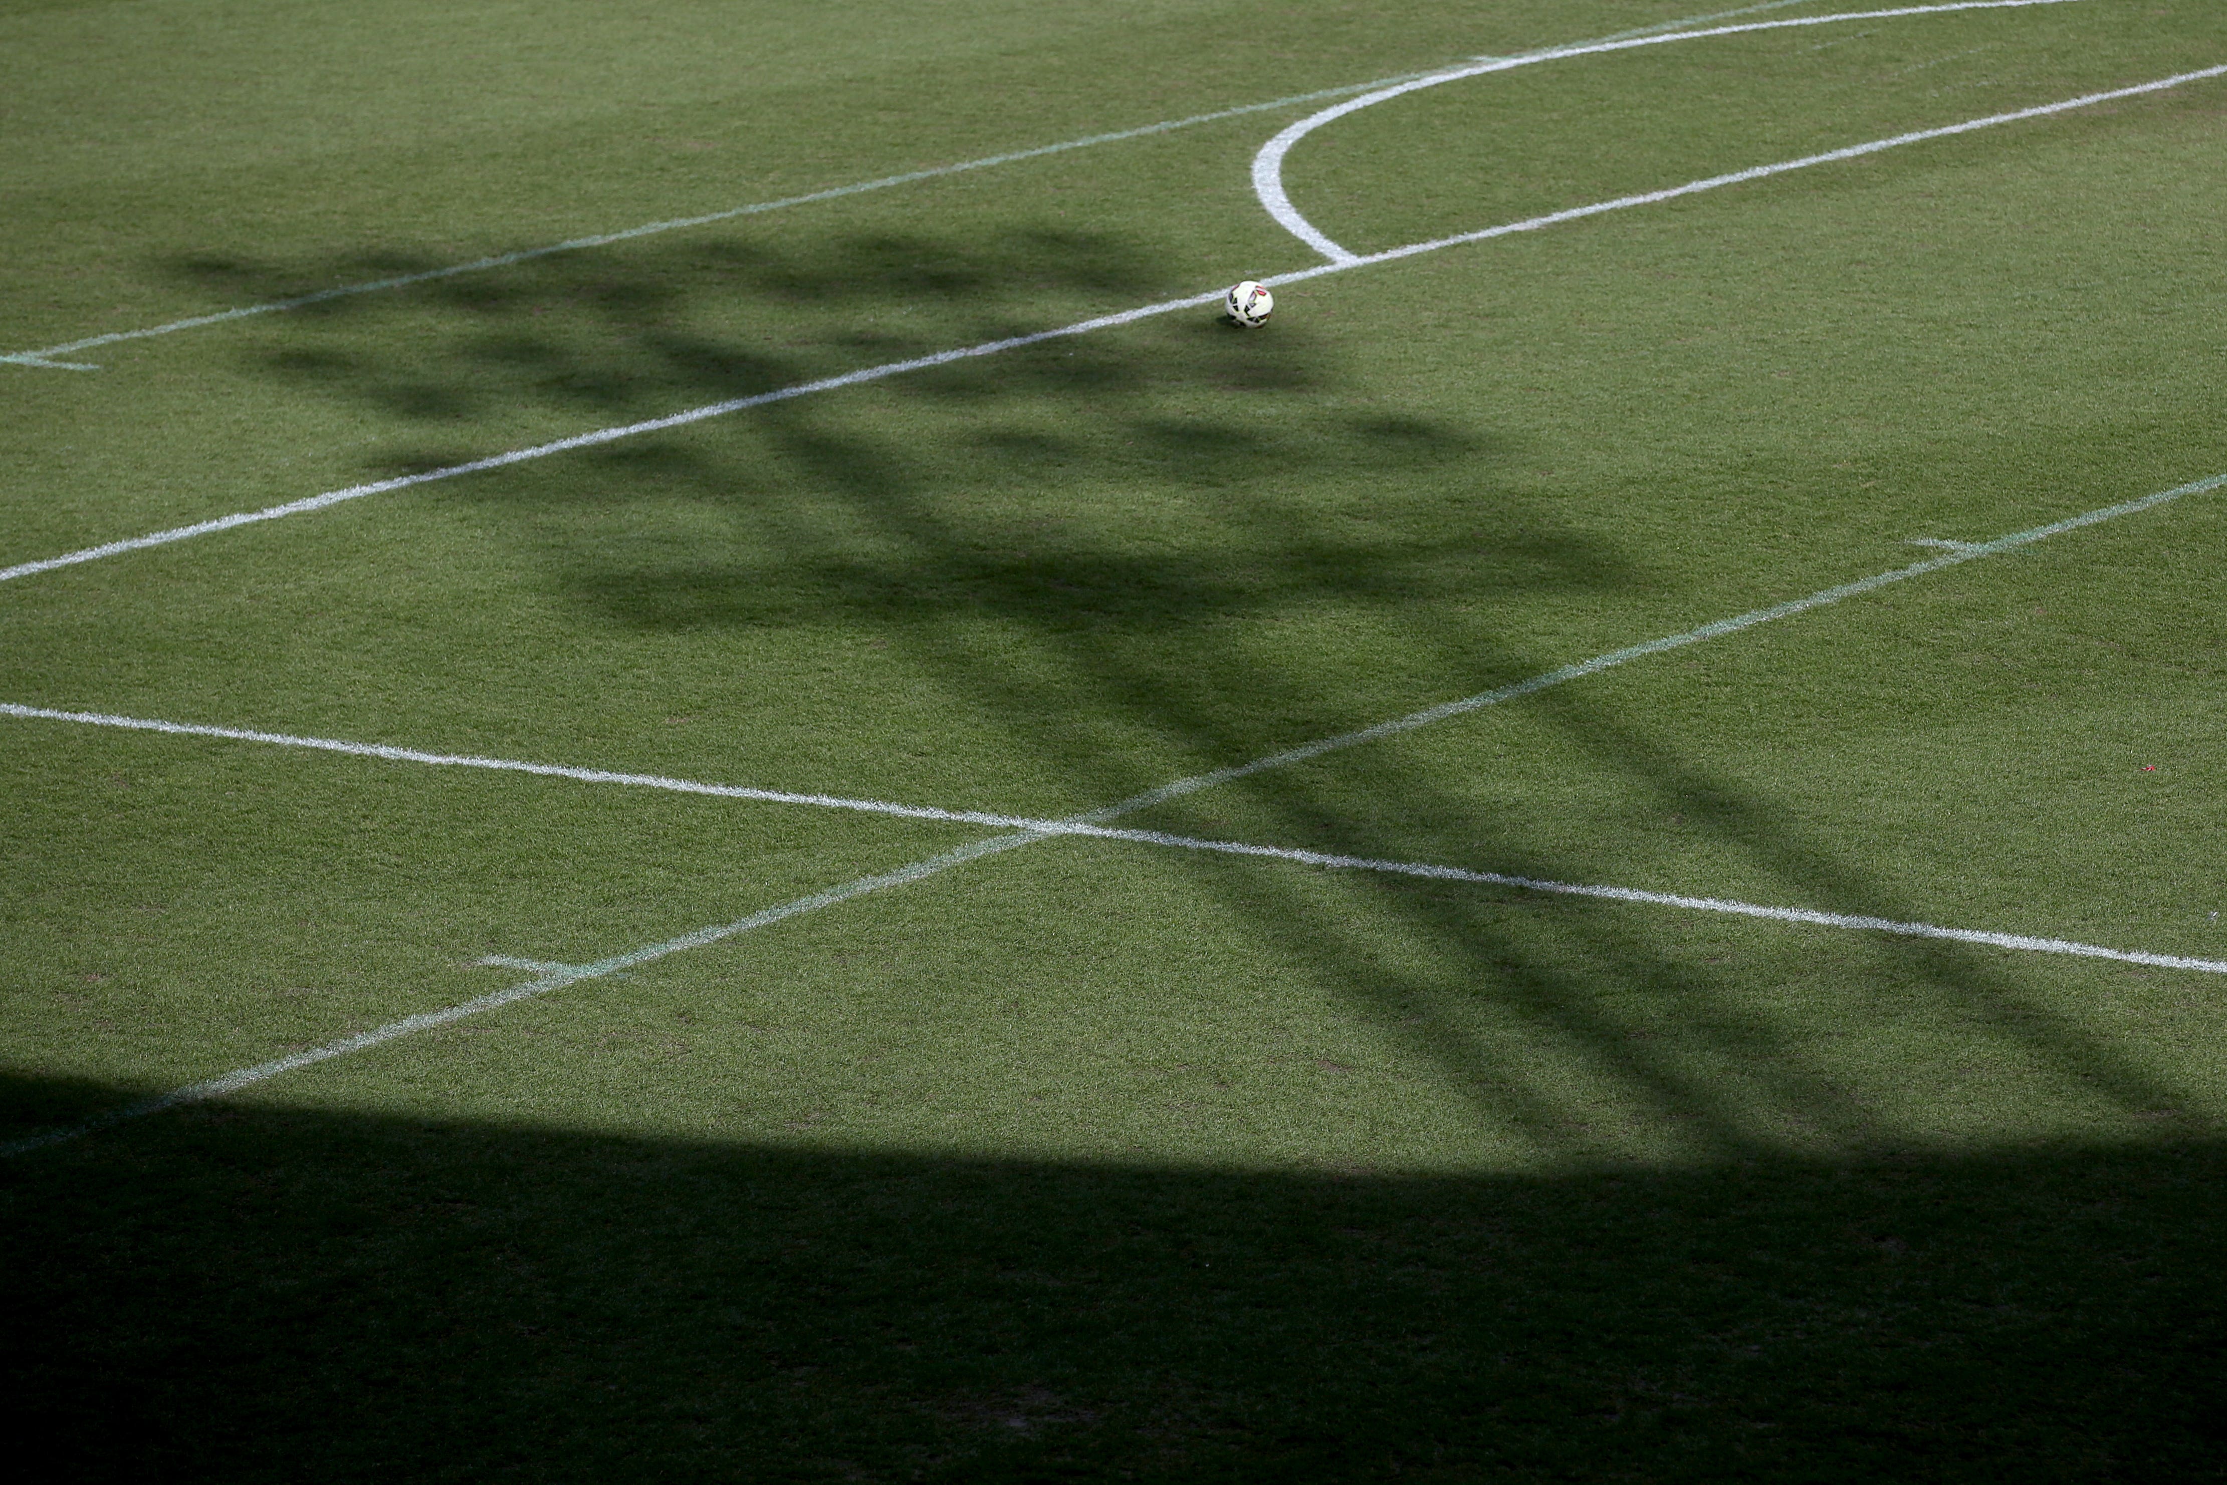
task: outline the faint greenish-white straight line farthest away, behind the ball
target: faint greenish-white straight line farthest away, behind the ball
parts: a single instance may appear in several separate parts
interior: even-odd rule
[[[1753,16],[1757,11],[1775,11],[1788,4],[1811,4],[1813,0],[1768,0],[1766,4],[1746,4],[1737,11],[1717,11],[1713,16],[1688,16],[1686,20],[1666,20],[1652,27],[1639,27],[1637,31],[1617,31],[1615,36],[1603,36],[1599,40],[1623,40],[1628,36],[1652,36],[1655,31],[1672,31],[1679,27],[1693,27],[1706,20],[1724,20],[1728,16]],[[1577,42],[1583,45],[1583,42]],[[1530,53],[1523,53],[1530,56]],[[1312,94],[1292,94],[1289,98],[1272,98],[1267,102],[1245,102],[1232,109],[1216,109],[1211,114],[1191,114],[1189,118],[1169,118],[1156,125],[1140,125],[1136,129],[1116,129],[1111,134],[1091,134],[1078,140],[1062,140],[1058,145],[1038,145],[1033,149],[1011,149],[1007,154],[982,156],[980,160],[960,160],[958,165],[931,165],[926,169],[913,169],[897,176],[882,176],[877,180],[860,180],[855,185],[835,185],[820,191],[806,191],[802,196],[782,196],[779,200],[759,200],[746,207],[728,207],[724,212],[706,212],[704,216],[675,216],[661,223],[644,223],[641,227],[626,227],[621,232],[604,232],[597,236],[568,238],[563,243],[550,243],[546,247],[521,247],[517,252],[492,254],[488,258],[472,258],[470,263],[452,263],[448,267],[421,269],[414,274],[392,274],[387,278],[372,278],[365,283],[345,283],[330,289],[314,289],[310,294],[296,294],[292,298],[274,298],[258,305],[241,305],[236,309],[216,309],[212,314],[194,314],[183,321],[169,321],[167,325],[149,325],[145,330],[116,330],[109,334],[85,336],[82,341],[65,341],[60,345],[47,345],[27,352],[0,354],[0,361],[47,367],[60,372],[98,372],[98,365],[82,361],[56,361],[56,356],[73,356],[85,350],[96,350],[100,345],[118,345],[122,341],[147,341],[151,336],[169,336],[180,330],[200,330],[203,325],[223,325],[227,321],[245,321],[258,314],[285,314],[290,309],[307,309],[310,305],[323,305],[334,298],[347,298],[352,294],[381,294],[387,289],[405,289],[416,283],[434,283],[439,278],[457,278],[459,274],[485,274],[499,267],[514,267],[519,263],[532,263],[534,258],[548,258],[566,252],[586,252],[592,247],[612,247],[615,243],[628,243],[635,238],[657,236],[661,232],[681,232],[686,227],[710,227],[715,223],[730,223],[744,216],[759,216],[764,212],[782,212],[788,207],[806,207],[822,200],[837,200],[842,196],[860,196],[864,191],[886,191],[897,185],[918,185],[922,180],[935,180],[942,176],[960,176],[975,169],[991,169],[995,165],[1018,165],[1020,160],[1040,160],[1053,154],[1067,154],[1071,149],[1091,149],[1096,145],[1118,145],[1122,140],[1149,138],[1154,134],[1171,134],[1176,129],[1191,129],[1196,125],[1211,125],[1225,118],[1245,118],[1247,114],[1272,114],[1276,109],[1292,109],[1303,102],[1321,102],[1323,98],[1343,98],[1347,94],[1365,94],[1390,82],[1403,82],[1407,78],[1436,76],[1436,69],[1428,73],[1401,73],[1399,78],[1376,78],[1374,82],[1347,82],[1343,87],[1325,87]]]

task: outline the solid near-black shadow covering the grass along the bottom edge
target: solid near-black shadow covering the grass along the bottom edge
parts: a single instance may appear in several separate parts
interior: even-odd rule
[[[2196,1481],[2223,1180],[2216,1142],[1338,1180],[203,1109],[9,1162],[0,1265],[69,1478]]]

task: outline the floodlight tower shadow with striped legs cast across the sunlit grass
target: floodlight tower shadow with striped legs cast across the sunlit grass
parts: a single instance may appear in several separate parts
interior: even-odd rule
[[[1058,258],[1071,245],[1073,238],[1024,234],[993,245],[833,238],[811,254],[650,247],[632,254],[624,269],[552,258],[537,267],[539,285],[570,283],[581,294],[604,285],[597,303],[615,305],[592,334],[563,341],[528,334],[530,296],[506,305],[441,305],[461,316],[445,374],[459,396],[470,387],[483,399],[488,419],[561,407],[581,394],[653,405],[668,392],[706,401],[706,394],[726,396],[759,383],[795,383],[813,367],[784,347],[630,321],[628,305],[641,301],[610,292],[615,276],[641,274],[659,292],[695,283],[697,294],[768,301],[802,294],[833,305],[833,318],[817,325],[817,347],[804,352],[824,354],[846,336],[891,334],[886,325],[895,314],[929,292],[918,276],[920,263],[940,265],[931,274],[938,312],[958,314],[978,332],[1007,323],[1009,287],[1022,269],[1053,278],[1071,272],[1089,285],[1114,272],[1089,263],[1062,267]],[[1116,243],[1098,243],[1091,252],[1102,263],[1127,265],[1120,274],[1142,274],[1134,265],[1149,258]],[[719,260],[717,287],[688,276],[684,258],[706,256]],[[1127,281],[1122,287],[1149,289]],[[510,336],[506,354],[517,372],[510,381],[488,376],[479,352],[492,336]],[[347,363],[350,376],[339,381],[314,358],[272,370],[327,392],[339,385],[343,394],[352,381],[359,396],[392,403],[401,374],[383,370],[370,350],[352,354],[359,361]],[[423,376],[425,365],[412,365],[410,374]],[[1289,744],[1289,724],[1267,724],[1265,715],[1312,717],[1301,737],[1374,721],[1350,717],[1350,699],[1325,695],[1367,677],[1350,666],[1325,668],[1314,652],[1265,659],[1258,646],[1245,643],[1252,623],[1336,612],[1352,626],[1379,623],[1405,635],[1419,675],[1461,677],[1450,688],[1490,686],[1550,668],[1499,630],[1492,601],[1548,592],[1606,597],[1648,579],[1641,554],[1621,552],[1601,534],[1559,521],[1552,508],[1519,496],[1503,474],[1517,450],[1490,427],[1463,427],[1419,410],[1347,405],[1358,390],[1354,376],[1332,343],[1305,330],[1229,338],[1200,321],[1167,334],[1042,345],[995,365],[882,383],[877,399],[964,412],[946,416],[953,432],[938,430],[926,441],[920,425],[902,439],[884,434],[833,399],[795,401],[717,427],[657,436],[626,454],[606,450],[572,465],[459,481],[441,499],[454,510],[479,512],[492,532],[517,541],[541,581],[597,621],[646,635],[806,623],[882,632],[902,646],[909,663],[933,675],[944,695],[971,697],[978,721],[1009,735],[1020,755],[1047,759],[1082,797],[1120,799],[1165,777],[1140,775],[1138,761],[1107,750],[1102,737],[1171,739],[1185,755],[1216,766]],[[1245,387],[1249,401],[1227,399],[1232,387]],[[410,416],[408,405],[387,412],[399,421]],[[1065,463],[1051,481],[1040,476],[1051,448],[1040,432],[1047,423],[1058,427],[1053,441]],[[392,450],[387,459],[410,461],[412,452]],[[592,474],[583,479],[581,470]],[[1321,510],[1303,499],[1314,481],[1361,479],[1372,470],[1425,476],[1430,483],[1416,499],[1463,492],[1477,501],[1479,528],[1410,532],[1399,521],[1354,519],[1354,512]],[[991,481],[1018,494],[995,510],[951,499]],[[1091,488],[1136,499],[1189,490],[1203,499],[1189,532],[1171,528],[1176,534],[1151,548],[1105,530],[1036,525],[1058,519],[1069,490]],[[739,519],[742,534],[702,543],[686,561],[675,561],[630,548],[624,534],[581,541],[541,521],[546,512],[561,517],[586,501],[621,510],[639,501],[648,510],[675,499]],[[1456,594],[1468,603],[1445,601]],[[982,623],[998,626],[1031,663],[987,661],[973,637]],[[1610,777],[1650,790],[1666,808],[1690,810],[1724,848],[1784,882],[1795,902],[1926,917],[1853,862],[1799,839],[1766,799],[1619,726],[1577,690],[1552,695],[1541,715],[1568,748]],[[1256,708],[1232,708],[1232,699],[1256,699]],[[1076,726],[1078,719],[1098,726]],[[1474,728],[1488,719],[1445,726]],[[1343,764],[1323,768],[1334,766]],[[1463,864],[1552,879],[1592,875],[1586,862],[1523,839],[1505,822],[1481,815],[1479,804],[1450,790],[1445,779],[1405,768],[1387,750],[1372,750],[1365,768],[1376,797],[1399,801],[1407,815],[1450,822],[1445,835],[1463,835],[1479,857]],[[984,797],[946,804],[1011,808],[995,797],[995,784],[982,779],[975,788]],[[1396,842],[1374,835],[1365,813],[1321,797],[1312,768],[1254,775],[1225,788],[1269,822],[1278,844],[1405,855]],[[1200,862],[1167,868],[1191,873],[1263,944],[1285,946],[1323,984],[1394,1026],[1416,1058],[1439,1066],[1448,1086],[1472,1100],[1479,1120],[1523,1131],[1552,1158],[1603,1153],[1599,1140],[1568,1129],[1550,1091],[1523,1086],[1456,1015],[1441,1015],[1423,1031],[1407,1029],[1416,1006],[1445,1000],[1445,977],[1425,982],[1385,971],[1365,942],[1367,924],[1345,926],[1307,913],[1276,877],[1278,868],[1227,871]],[[1877,1151],[1909,1133],[1837,1086],[1826,1060],[1804,1046],[1797,1024],[1775,1024],[1744,1006],[1728,984],[1646,942],[1615,913],[1559,919],[1561,931],[1606,966],[1588,971],[1603,980],[1588,982],[1574,966],[1583,955],[1552,951],[1512,922],[1468,906],[1443,911],[1392,884],[1361,891],[1374,895],[1379,915],[1456,964],[1454,977],[1477,986],[1474,995],[1497,997],[1541,1037],[1577,1049],[1623,1091],[1635,1118],[1675,1127],[1695,1153],[1748,1158],[1773,1149],[1773,1135],[1733,1093],[1799,1115],[1826,1144],[1851,1153]],[[1884,953],[1904,955],[1940,1004],[1982,1015],[2002,1035],[2020,1037],[2051,1075],[2120,1113],[2169,1102],[2098,1040],[2047,1017],[2009,1015],[2007,1006],[2020,1000],[2015,984],[1982,955],[1935,944]],[[1657,1009],[1675,1006],[1684,1051],[1635,1037],[1632,1017],[1619,1009],[1619,997],[1630,995],[1652,995]],[[1744,1069],[1739,1086],[1699,1078],[1693,1069],[1701,1053],[1737,1062]]]

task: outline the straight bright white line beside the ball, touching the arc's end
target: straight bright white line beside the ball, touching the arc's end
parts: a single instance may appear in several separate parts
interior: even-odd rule
[[[1984,0],[1989,4],[2000,4],[2007,0]],[[2018,2],[2062,2],[2062,0],[2018,0]],[[1399,258],[1412,258],[1416,254],[1439,252],[1443,247],[1456,247],[1463,243],[1483,243],[1488,238],[1512,236],[1519,232],[1539,232],[1541,227],[1554,227],[1559,223],[1572,223],[1586,216],[1601,216],[1603,212],[1623,212],[1630,207],[1644,207],[1661,200],[1672,200],[1677,196],[1693,196],[1697,191],[1710,191],[1724,185],[1739,185],[1746,180],[1762,180],[1766,176],[1786,174],[1793,169],[1808,169],[1813,165],[1828,165],[1833,160],[1853,160],[1857,156],[1877,154],[1882,149],[1897,149],[1902,145],[1917,145],[1922,140],[1949,138],[1953,134],[1969,134],[1973,129],[1991,129],[1995,125],[2009,125],[2027,118],[2047,118],[2051,114],[2064,114],[2071,109],[2093,107],[2098,102],[2113,102],[2118,98],[2138,98],[2145,94],[2158,94],[2171,87],[2182,87],[2187,82],[2198,82],[2205,78],[2227,76],[2227,67],[2209,67],[2205,71],[2178,73],[2171,78],[2160,78],[2156,82],[2140,82],[2136,87],[2120,87],[2107,94],[2087,94],[2082,98],[2067,98],[2064,102],[2049,102],[2031,109],[2018,109],[2013,114],[1991,114],[1986,118],[1973,118],[1960,125],[1944,125],[1940,129],[1920,129],[1915,134],[1897,134],[1884,140],[1871,140],[1866,145],[1848,145],[1846,149],[1833,149],[1828,154],[1804,156],[1799,160],[1786,160],[1779,165],[1757,165],[1750,169],[1733,171],[1728,176],[1710,176],[1706,180],[1690,180],[1686,185],[1668,187],[1661,191],[1648,191],[1644,196],[1619,196],[1615,200],[1595,203],[1588,207],[1570,207],[1566,212],[1550,212],[1546,216],[1532,216],[1519,223],[1503,223],[1499,227],[1483,227],[1481,232],[1463,232],[1448,238],[1434,238],[1430,243],[1410,243],[1405,247],[1387,247],[1385,252],[1363,254],[1341,263],[1318,263],[1314,267],[1294,269],[1289,274],[1269,274],[1260,283],[1269,287],[1285,287],[1292,283],[1305,283],[1309,278],[1323,278],[1327,274],[1343,274],[1356,267],[1372,267],[1379,263],[1394,263]],[[1047,341],[1058,341],[1062,336],[1080,336],[1096,330],[1111,330],[1118,325],[1134,325],[1160,314],[1171,314],[1176,309],[1198,309],[1205,305],[1220,303],[1223,289],[1209,289],[1205,294],[1189,294],[1185,298],[1167,298],[1156,305],[1140,305],[1136,309],[1122,309],[1118,314],[1100,314],[1073,325],[1060,325],[1058,330],[1038,330],[1031,334],[1007,336],[1002,341],[982,341],[980,345],[964,345],[958,350],[944,350],[929,356],[911,356],[906,361],[889,361],[882,365],[860,367],[855,372],[844,372],[840,376],[822,376],[817,381],[804,381],[773,392],[757,392],[753,396],[737,396],[724,403],[708,403],[704,407],[690,407],[686,412],[673,412],[659,419],[646,419],[641,423],[621,423],[617,427],[599,427],[586,434],[572,434],[570,439],[555,439],[550,443],[534,443],[530,448],[510,450],[506,454],[492,454],[488,459],[472,459],[468,463],[454,463],[439,470],[423,470],[419,474],[399,474],[394,479],[379,479],[363,485],[347,485],[345,490],[327,490],[325,494],[312,494],[301,501],[287,501],[285,505],[267,505],[263,510],[245,510],[229,517],[216,517],[212,521],[196,521],[192,525],[176,525],[169,530],[151,532],[147,537],[129,537],[125,541],[107,541],[102,545],[82,548],[78,552],[65,552],[60,557],[42,557],[36,561],[16,563],[11,568],[0,568],[0,583],[33,577],[40,572],[53,572],[58,568],[71,568],[87,561],[100,561],[105,557],[118,557],[125,552],[140,552],[147,548],[169,545],[174,541],[189,541],[194,537],[207,537],[214,532],[234,530],[238,525],[254,525],[261,521],[278,521],[283,517],[298,517],[312,510],[325,510],[330,505],[341,505],[345,501],[359,501],[370,494],[385,494],[392,490],[410,490],[414,485],[428,485],[443,479],[457,479],[463,474],[481,474],[485,470],[501,470],[514,463],[528,463],[532,459],[548,459],[550,454],[563,454],[572,450],[595,448],[601,443],[617,443],[619,439],[635,439],[641,434],[664,432],[673,427],[686,427],[690,423],[702,423],[706,419],[722,419],[750,407],[766,407],[771,403],[782,403],[797,396],[811,396],[815,392],[833,392],[837,387],[855,387],[873,381],[884,381],[889,376],[900,376],[906,372],[922,372],[938,365],[953,365],[958,361],[973,361],[978,356],[995,356],[1000,352],[1020,350],[1027,345],[1042,345]]]

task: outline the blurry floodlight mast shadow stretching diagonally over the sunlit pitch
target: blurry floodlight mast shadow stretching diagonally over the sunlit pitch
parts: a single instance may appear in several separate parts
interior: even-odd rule
[[[501,448],[521,416],[653,416],[1196,287],[1165,283],[1147,245],[1044,227],[766,240],[704,234],[332,301],[254,354],[278,383],[381,414],[381,468],[421,468]],[[367,254],[298,274],[178,269],[276,294],[372,265],[408,267]],[[1056,341],[461,479],[439,499],[485,521],[586,623],[637,635],[648,652],[706,632],[817,646],[855,630],[895,646],[933,695],[1091,801],[1165,781],[1165,761],[1138,761],[1136,737],[1176,739],[1200,770],[1247,761],[1577,659],[1534,648],[1528,606],[1672,581],[1661,572],[1681,552],[1626,554],[1512,492],[1485,414],[1385,405],[1358,352],[1294,321],[1249,336],[1200,314]],[[563,663],[550,657],[552,675]],[[846,679],[837,668],[826,684]],[[1370,695],[1383,699],[1356,699]],[[911,746],[875,732],[873,704],[844,712],[862,755]],[[1860,842],[1804,835],[1686,757],[1690,739],[1650,737],[1583,688],[1528,708],[1568,757],[1690,822],[1786,902],[1929,917],[1860,864]],[[1448,864],[1601,877],[1599,862],[1510,828],[1459,770],[1367,748],[1334,773],[1263,773],[1225,790],[1278,844],[1407,857],[1421,835]],[[877,779],[844,786],[886,793]],[[995,779],[980,788],[935,801],[1011,808]],[[1180,810],[1176,824],[1189,824]],[[1260,944],[1396,1029],[1481,1118],[1521,1127],[1541,1153],[1606,1158],[1615,1140],[1572,1133],[1590,1093],[1512,1075],[1505,1044],[1474,1031],[1481,1006],[1595,1066],[1635,1118],[1675,1124],[1695,1155],[1764,1155],[1786,1127],[1848,1153],[1904,1133],[1880,1113],[1900,1091],[1877,1069],[1851,1082],[1802,1011],[1757,1009],[1770,995],[1737,971],[1684,962],[1610,913],[1570,913],[1541,937],[1501,911],[1505,895],[1381,882],[1374,922],[1323,922],[1276,873],[1200,879]],[[1441,968],[1387,968],[1372,937],[1383,924]],[[2136,1115],[2180,1102],[2053,1015],[2000,957],[1884,942],[1873,966],[1897,980],[1888,1015],[1955,1026],[1944,1035],[1975,1062],[2009,1046],[2060,1107],[2131,1133]]]

